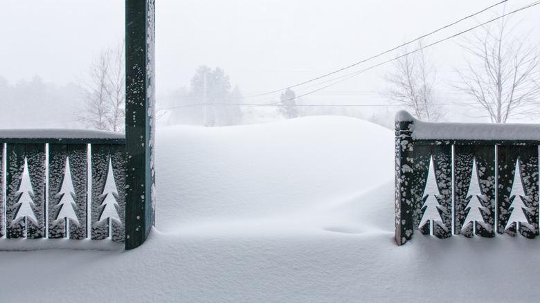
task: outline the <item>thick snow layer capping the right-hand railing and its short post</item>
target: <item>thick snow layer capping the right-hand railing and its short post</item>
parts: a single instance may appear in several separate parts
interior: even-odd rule
[[[412,122],[415,140],[540,140],[540,124],[424,122],[407,111],[398,111],[395,122]]]

